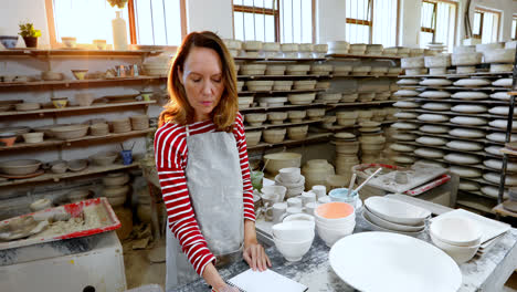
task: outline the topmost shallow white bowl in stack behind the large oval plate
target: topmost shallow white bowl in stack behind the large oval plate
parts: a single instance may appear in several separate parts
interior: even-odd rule
[[[365,200],[365,206],[380,218],[399,225],[420,226],[431,216],[431,212],[423,208],[383,197],[370,197]]]

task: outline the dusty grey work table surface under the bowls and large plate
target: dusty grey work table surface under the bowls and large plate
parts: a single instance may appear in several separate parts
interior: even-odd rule
[[[370,231],[368,223],[357,216],[354,233]],[[419,239],[431,242],[429,233],[422,232]],[[273,271],[308,286],[308,291],[356,291],[337,277],[328,261],[329,248],[316,234],[310,250],[298,262],[287,262],[275,247],[266,249],[272,260]],[[510,229],[502,240],[483,257],[460,265],[463,284],[460,292],[500,291],[502,285],[517,268],[517,229]],[[220,269],[224,279],[230,279],[249,269],[240,261]],[[373,279],[372,279],[373,280]],[[202,279],[167,292],[208,291]]]

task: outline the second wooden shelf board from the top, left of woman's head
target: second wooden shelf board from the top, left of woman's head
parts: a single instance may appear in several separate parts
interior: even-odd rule
[[[99,80],[63,80],[63,81],[34,81],[34,82],[0,82],[0,88],[32,88],[36,86],[64,86],[74,85],[98,85],[120,82],[139,82],[139,81],[160,81],[167,76],[137,76],[137,77],[117,77],[117,79],[99,79]]]

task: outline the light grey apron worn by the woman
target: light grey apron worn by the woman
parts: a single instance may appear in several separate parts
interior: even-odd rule
[[[191,205],[208,249],[218,263],[242,257],[244,206],[241,160],[232,133],[190,136],[186,178]],[[166,291],[199,279],[179,241],[167,230]]]

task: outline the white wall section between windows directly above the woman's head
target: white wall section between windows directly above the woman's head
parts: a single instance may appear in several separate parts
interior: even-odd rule
[[[210,30],[233,38],[232,0],[188,0],[187,32]]]

